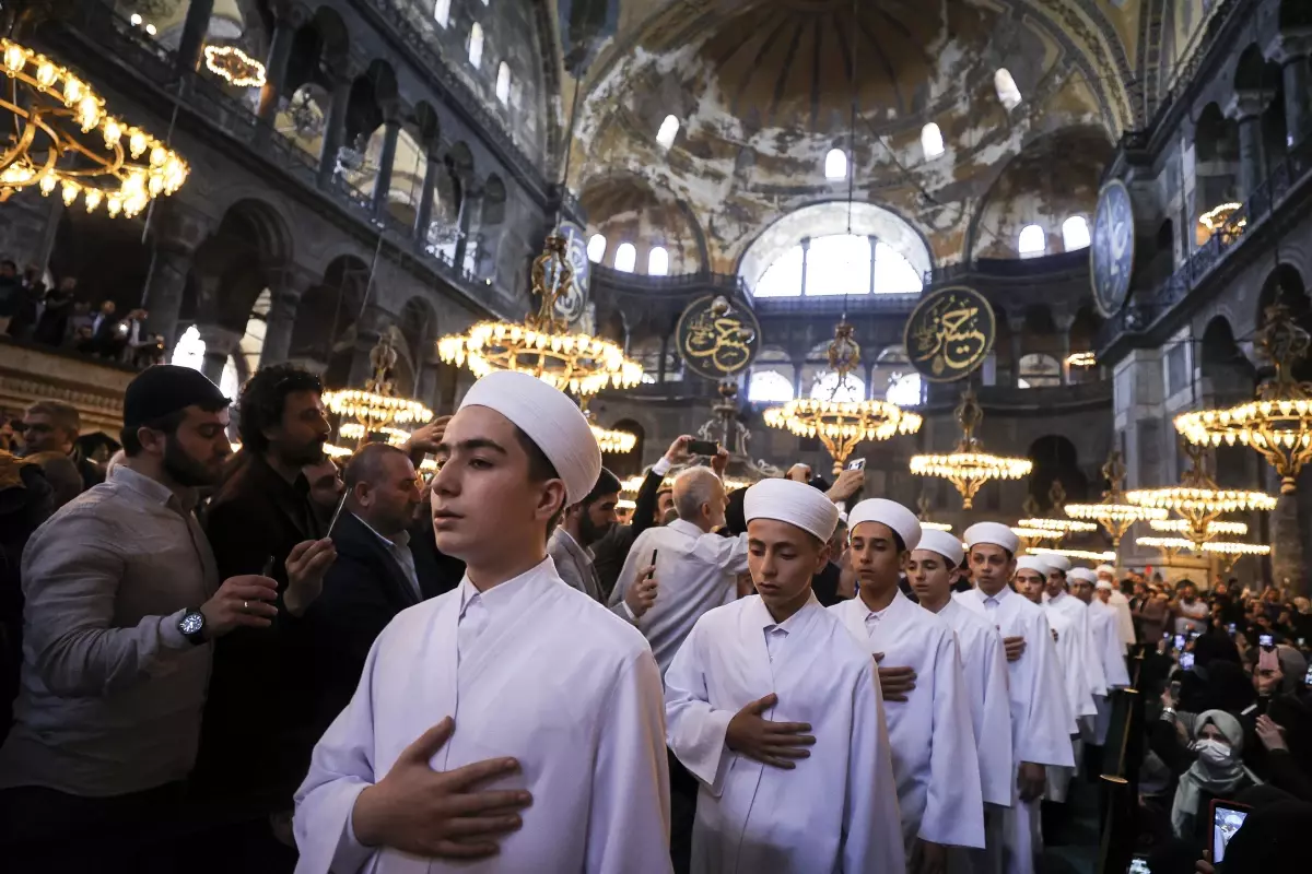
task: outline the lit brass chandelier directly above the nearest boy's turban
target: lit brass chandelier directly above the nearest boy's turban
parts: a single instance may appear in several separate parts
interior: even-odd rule
[[[567,245],[565,237],[552,231],[533,262],[533,294],[541,299],[537,314],[530,313],[523,324],[483,321],[464,334],[443,337],[437,342],[438,356],[479,377],[499,370],[531,373],[577,397],[589,397],[607,385],[638,385],[642,364],[607,339],[571,333],[556,313],[556,299],[573,283]]]

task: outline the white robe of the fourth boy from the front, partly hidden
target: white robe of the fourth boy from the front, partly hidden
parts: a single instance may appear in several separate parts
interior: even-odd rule
[[[1012,704],[1002,638],[983,616],[955,600],[938,611],[938,618],[956,633],[979,752],[980,791],[985,803],[1010,807],[1015,763],[1012,760]]]

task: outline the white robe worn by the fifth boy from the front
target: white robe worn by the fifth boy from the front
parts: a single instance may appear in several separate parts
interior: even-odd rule
[[[1004,638],[1025,638],[1025,653],[1015,662],[1006,663],[1017,767],[1029,761],[1073,768],[1071,730],[1075,714],[1067,704],[1056,643],[1044,609],[1006,586],[992,599],[979,588],[958,592],[953,598],[993,622]],[[996,607],[989,607],[987,601],[994,601]],[[1012,807],[1005,811],[1004,824],[1004,870],[1008,874],[1030,874],[1042,845],[1038,803],[1021,801],[1015,781],[1012,786]]]

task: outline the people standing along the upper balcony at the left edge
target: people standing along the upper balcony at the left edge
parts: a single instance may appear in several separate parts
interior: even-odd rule
[[[98,305],[77,291],[76,276],[46,287],[37,267],[0,259],[0,334],[42,346],[67,347],[85,355],[142,370],[164,360],[164,338],[147,330],[150,313],[119,313],[113,300]]]

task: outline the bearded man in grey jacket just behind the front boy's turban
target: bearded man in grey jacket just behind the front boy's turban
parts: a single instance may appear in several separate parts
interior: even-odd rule
[[[601,591],[597,569],[593,566],[592,545],[605,537],[615,524],[617,503],[619,503],[619,480],[602,468],[597,485],[586,498],[565,508],[560,524],[547,540],[547,554],[556,563],[560,579],[598,603],[605,603],[605,595]],[[653,600],[656,600],[656,580],[644,574],[643,579],[610,611],[628,622],[636,622]]]

